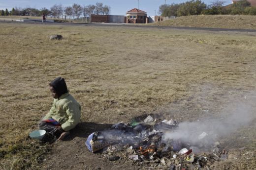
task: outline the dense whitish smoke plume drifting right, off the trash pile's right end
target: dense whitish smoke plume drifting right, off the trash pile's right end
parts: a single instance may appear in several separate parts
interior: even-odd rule
[[[209,147],[221,137],[235,132],[250,123],[256,114],[249,104],[236,104],[226,108],[219,118],[206,118],[201,121],[181,122],[179,128],[163,134],[163,142],[179,140],[192,146]],[[229,113],[229,112],[230,113]]]

